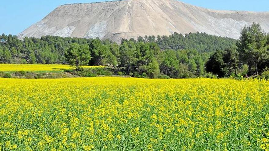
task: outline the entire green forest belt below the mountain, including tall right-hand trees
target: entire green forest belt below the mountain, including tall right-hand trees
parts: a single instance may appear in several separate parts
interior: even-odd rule
[[[256,29],[252,29],[254,27]],[[250,31],[259,31],[259,37]],[[250,41],[251,38],[255,40]],[[17,36],[2,34],[0,63],[105,65],[123,69],[121,75],[150,78],[212,77],[213,74],[229,77],[263,72],[269,66],[267,45],[269,36],[259,24],[242,29],[240,40],[197,32],[122,39],[117,44],[98,38],[57,36],[20,40]],[[256,54],[246,54],[247,49],[259,50]],[[264,53],[259,54],[260,49],[264,49]]]

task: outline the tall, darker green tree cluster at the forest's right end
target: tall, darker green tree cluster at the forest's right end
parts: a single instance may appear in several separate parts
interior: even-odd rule
[[[260,24],[252,23],[241,30],[237,48],[216,51],[206,64],[207,72],[219,77],[240,79],[241,76],[257,77],[269,67],[269,35]],[[237,72],[238,71],[238,72]],[[253,75],[254,74],[254,75]]]

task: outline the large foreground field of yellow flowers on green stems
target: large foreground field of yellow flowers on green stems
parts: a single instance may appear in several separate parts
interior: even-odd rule
[[[269,83],[0,78],[0,150],[269,149]]]

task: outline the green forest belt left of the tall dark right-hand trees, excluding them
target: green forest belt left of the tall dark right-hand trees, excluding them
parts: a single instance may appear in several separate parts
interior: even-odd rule
[[[19,40],[0,36],[0,63],[105,65],[122,68],[132,76],[190,78],[206,75],[205,63],[215,49],[228,48],[237,40],[190,33],[183,36],[145,36],[109,40],[42,36]]]

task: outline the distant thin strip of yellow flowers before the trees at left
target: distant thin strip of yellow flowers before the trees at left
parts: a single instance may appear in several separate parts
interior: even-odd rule
[[[83,68],[98,68],[103,66],[82,66]],[[72,69],[70,65],[61,64],[0,64],[0,71],[61,71]]]

